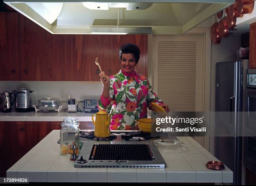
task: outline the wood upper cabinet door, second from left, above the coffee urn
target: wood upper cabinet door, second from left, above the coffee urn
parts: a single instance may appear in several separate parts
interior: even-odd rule
[[[53,35],[20,15],[20,73],[24,81],[61,81],[63,35]]]

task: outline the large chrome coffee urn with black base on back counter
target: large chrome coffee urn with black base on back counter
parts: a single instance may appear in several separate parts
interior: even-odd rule
[[[17,86],[16,93],[16,112],[30,112],[32,108],[32,92],[27,84],[20,84]]]

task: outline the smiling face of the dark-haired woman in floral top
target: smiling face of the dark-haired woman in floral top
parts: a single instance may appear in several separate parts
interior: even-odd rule
[[[133,73],[134,68],[136,66],[136,61],[133,54],[122,53],[121,66],[124,72]]]

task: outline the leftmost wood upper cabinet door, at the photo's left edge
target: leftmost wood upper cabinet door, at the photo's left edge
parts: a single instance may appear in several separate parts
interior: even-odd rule
[[[19,13],[0,12],[0,80],[20,80]]]

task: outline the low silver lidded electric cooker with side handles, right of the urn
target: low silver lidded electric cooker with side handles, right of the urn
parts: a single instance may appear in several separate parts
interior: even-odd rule
[[[52,97],[45,97],[44,99],[38,100],[36,105],[33,105],[36,112],[42,110],[44,112],[57,111],[61,112],[62,105],[59,99]]]

